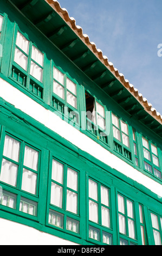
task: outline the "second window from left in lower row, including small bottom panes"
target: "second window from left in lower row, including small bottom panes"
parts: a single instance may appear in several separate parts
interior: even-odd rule
[[[79,234],[79,173],[53,159],[48,223]]]

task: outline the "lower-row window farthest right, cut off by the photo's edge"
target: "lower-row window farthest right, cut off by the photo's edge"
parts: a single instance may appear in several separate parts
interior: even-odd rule
[[[162,237],[162,217],[151,212],[151,221],[155,245],[161,245]]]

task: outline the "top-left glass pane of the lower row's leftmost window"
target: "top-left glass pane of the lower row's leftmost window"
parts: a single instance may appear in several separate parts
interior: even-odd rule
[[[5,136],[3,155],[18,162],[20,153],[20,142],[10,136]]]

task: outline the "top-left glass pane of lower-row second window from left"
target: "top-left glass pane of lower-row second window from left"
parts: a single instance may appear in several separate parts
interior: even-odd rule
[[[64,166],[62,163],[53,159],[53,166],[52,166],[52,179],[63,184],[63,169]]]

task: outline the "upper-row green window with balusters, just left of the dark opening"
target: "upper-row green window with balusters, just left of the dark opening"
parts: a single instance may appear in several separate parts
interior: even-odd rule
[[[65,120],[80,124],[78,84],[52,62],[51,106],[62,114]]]

